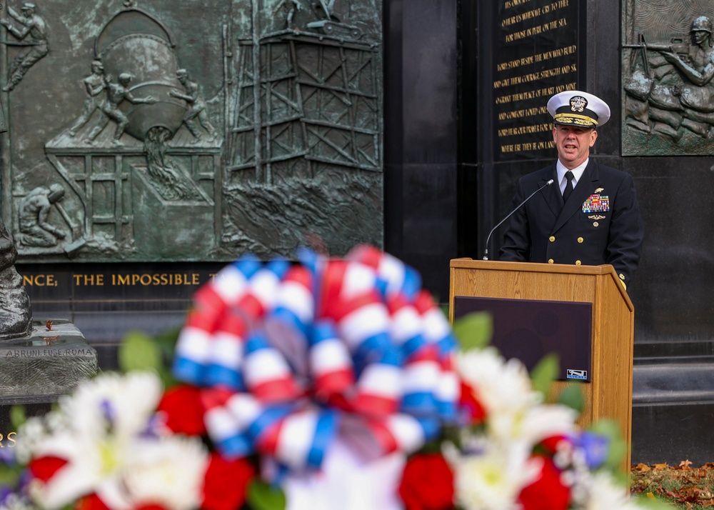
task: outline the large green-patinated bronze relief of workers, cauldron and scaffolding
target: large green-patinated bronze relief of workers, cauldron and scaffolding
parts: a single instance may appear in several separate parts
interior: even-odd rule
[[[379,1],[208,4],[24,2],[1,18],[21,261],[381,246]]]

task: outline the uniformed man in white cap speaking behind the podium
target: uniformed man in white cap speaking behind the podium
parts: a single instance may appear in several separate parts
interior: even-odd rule
[[[625,289],[640,260],[643,226],[633,179],[590,158],[610,107],[593,94],[564,91],[548,101],[558,161],[523,176],[499,258],[548,264],[612,264]]]

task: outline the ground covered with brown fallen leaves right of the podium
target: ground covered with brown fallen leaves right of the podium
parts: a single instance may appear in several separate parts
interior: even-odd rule
[[[674,504],[678,509],[714,509],[714,462],[694,467],[637,464],[630,469],[632,494]]]

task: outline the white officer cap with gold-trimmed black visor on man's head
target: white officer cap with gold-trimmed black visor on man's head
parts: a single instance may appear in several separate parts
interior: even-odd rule
[[[595,128],[610,119],[610,106],[593,94],[568,90],[550,98],[548,113],[553,116],[553,124]]]

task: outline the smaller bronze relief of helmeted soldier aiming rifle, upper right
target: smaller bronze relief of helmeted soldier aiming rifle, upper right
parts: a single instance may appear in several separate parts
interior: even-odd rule
[[[626,155],[714,154],[714,13],[705,4],[688,9],[672,4],[669,9],[658,14],[645,2],[628,4]]]

